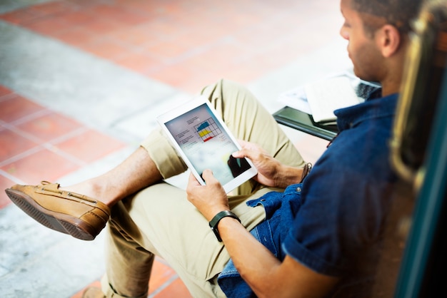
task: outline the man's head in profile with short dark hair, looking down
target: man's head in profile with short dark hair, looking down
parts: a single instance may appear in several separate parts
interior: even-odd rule
[[[380,82],[383,95],[399,90],[408,32],[420,5],[421,0],[341,0],[340,34],[349,41],[354,72]]]

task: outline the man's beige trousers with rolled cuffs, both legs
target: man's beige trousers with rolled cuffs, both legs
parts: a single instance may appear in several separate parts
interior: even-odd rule
[[[301,167],[303,158],[270,113],[245,88],[229,81],[201,92],[238,139],[258,143],[282,163]],[[153,131],[141,146],[164,178],[186,170],[161,130]],[[263,207],[245,202],[273,190],[249,181],[229,197],[230,207],[251,230],[265,218]],[[216,240],[208,222],[186,193],[168,183],[151,185],[122,200],[111,210],[106,243],[106,275],[102,287],[107,297],[147,297],[154,256],[179,274],[194,297],[224,297],[216,276],[230,259]]]

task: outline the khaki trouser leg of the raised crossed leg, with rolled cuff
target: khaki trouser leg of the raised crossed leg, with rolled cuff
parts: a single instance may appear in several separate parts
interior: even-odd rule
[[[261,145],[286,165],[304,165],[304,160],[293,143],[248,89],[237,83],[221,80],[204,88],[201,94],[209,99],[236,138]],[[141,145],[149,152],[164,178],[186,170],[183,160],[161,130],[151,133]],[[233,194],[247,195],[260,187],[261,185],[250,181],[238,187]]]

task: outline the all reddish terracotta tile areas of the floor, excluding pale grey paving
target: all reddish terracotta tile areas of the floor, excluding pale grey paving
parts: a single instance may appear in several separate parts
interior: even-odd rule
[[[334,11],[333,0],[66,0],[0,19],[196,92],[221,77],[248,83],[315,50],[338,31]],[[126,145],[1,85],[0,143],[1,189],[56,180]],[[0,192],[0,208],[8,204]],[[162,260],[156,260],[151,294],[190,296]]]

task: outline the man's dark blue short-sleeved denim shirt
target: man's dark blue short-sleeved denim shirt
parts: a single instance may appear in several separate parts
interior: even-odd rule
[[[340,133],[303,183],[247,202],[265,207],[266,220],[251,234],[279,260],[289,255],[315,272],[340,277],[338,287],[373,276],[396,181],[388,140],[397,98],[337,110]],[[218,280],[227,297],[255,297],[231,260]]]

